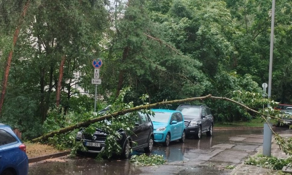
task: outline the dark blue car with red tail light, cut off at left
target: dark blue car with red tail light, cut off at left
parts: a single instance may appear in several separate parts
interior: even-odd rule
[[[12,129],[0,123],[0,175],[27,175],[26,146]]]

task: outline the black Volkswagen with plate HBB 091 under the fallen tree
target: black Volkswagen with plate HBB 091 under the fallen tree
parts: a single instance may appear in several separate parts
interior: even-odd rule
[[[145,152],[152,151],[154,140],[153,124],[147,114],[138,113],[138,116],[139,120],[135,123],[135,128],[132,130],[132,134],[130,136],[128,135],[127,137],[125,132],[119,130],[122,137],[121,139],[118,139],[117,142],[123,149],[123,158],[129,158],[131,148],[133,151],[141,148],[144,148]],[[100,129],[96,129],[96,132],[93,135],[85,134],[82,131],[79,131],[76,135],[76,141],[82,141],[83,145],[88,149],[88,152],[100,153],[106,146],[106,137],[107,133]],[[137,144],[133,144],[133,142]]]

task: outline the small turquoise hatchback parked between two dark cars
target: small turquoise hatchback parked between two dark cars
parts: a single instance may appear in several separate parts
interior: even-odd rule
[[[168,146],[169,142],[185,142],[185,121],[181,112],[175,110],[153,109],[150,115],[154,126],[154,142]]]

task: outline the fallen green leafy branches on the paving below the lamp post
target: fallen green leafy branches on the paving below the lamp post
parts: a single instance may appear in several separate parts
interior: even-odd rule
[[[249,160],[245,161],[244,164],[247,165],[256,165],[264,168],[270,168],[274,170],[281,170],[284,166],[290,165],[291,166],[291,156],[287,159],[284,158],[277,158],[274,156],[265,157],[259,155],[258,157],[252,158],[250,157]]]

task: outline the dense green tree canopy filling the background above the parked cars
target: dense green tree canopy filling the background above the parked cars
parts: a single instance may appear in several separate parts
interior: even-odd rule
[[[3,77],[13,51],[0,123],[27,138],[93,110],[93,59],[103,61],[98,109],[126,86],[125,101],[138,105],[142,94],[156,103],[262,93],[268,81],[270,0],[31,0],[14,46],[25,3],[0,3]],[[292,103],[291,9],[289,0],[276,2],[272,100],[281,103]],[[192,103],[208,105],[216,121],[250,119],[228,102]]]

